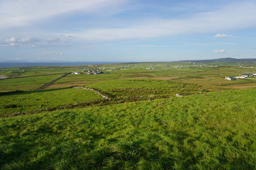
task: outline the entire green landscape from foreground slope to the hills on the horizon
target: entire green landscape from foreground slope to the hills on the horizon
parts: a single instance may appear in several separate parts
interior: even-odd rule
[[[0,79],[2,115],[92,103],[0,118],[0,167],[256,169],[256,78],[225,80],[254,67],[224,60],[0,69],[10,76]],[[111,74],[69,74],[33,90],[81,70]],[[32,91],[1,93],[18,90]]]

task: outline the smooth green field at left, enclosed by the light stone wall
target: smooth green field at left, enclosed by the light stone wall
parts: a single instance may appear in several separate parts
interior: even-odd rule
[[[43,108],[59,107],[103,99],[92,91],[76,88],[25,91],[18,94],[0,96],[0,114],[26,112]],[[8,105],[16,108],[5,108]]]

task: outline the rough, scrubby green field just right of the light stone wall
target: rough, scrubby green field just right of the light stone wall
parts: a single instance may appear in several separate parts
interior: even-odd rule
[[[196,84],[180,83],[169,80],[150,79],[115,79],[94,83],[89,88],[96,88],[112,97],[162,95],[174,96],[175,94],[189,95],[204,92],[204,88]]]

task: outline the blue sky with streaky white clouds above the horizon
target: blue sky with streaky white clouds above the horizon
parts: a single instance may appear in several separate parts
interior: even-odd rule
[[[256,58],[256,1],[0,0],[0,62]]]

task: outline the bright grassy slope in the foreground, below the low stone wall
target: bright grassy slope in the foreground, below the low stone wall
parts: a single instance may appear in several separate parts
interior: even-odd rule
[[[2,169],[255,169],[256,88],[0,119]]]

